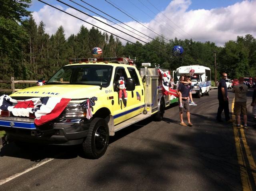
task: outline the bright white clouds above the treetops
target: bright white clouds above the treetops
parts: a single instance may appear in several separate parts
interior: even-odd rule
[[[148,26],[148,28],[154,29],[156,33],[164,34],[164,36],[168,39],[172,39],[175,36],[178,39],[191,38],[192,36],[193,40],[201,42],[211,41],[215,42],[219,46],[223,46],[228,40],[236,40],[237,36],[252,34],[254,37],[256,37],[256,0],[245,0],[224,8],[188,11],[190,4],[191,0],[172,0],[172,2],[170,2],[162,13],[158,13],[158,16],[156,16],[154,20],[151,20],[149,23],[144,23],[144,25]],[[104,28],[109,32],[124,37],[132,42],[136,42],[134,38],[122,34],[122,32],[118,32],[113,28],[94,20],[93,18],[73,10],[72,8],[64,9],[60,5],[56,6],[70,14],[74,14],[75,16],[86,20],[87,22]],[[92,27],[81,20],[55,10],[49,6],[44,6],[38,12],[34,12],[33,17],[37,24],[39,24],[41,20],[46,24],[46,32],[50,35],[54,34],[57,28],[62,25],[65,30],[66,38],[70,36],[70,34],[77,34],[82,24],[87,28]],[[102,18],[95,18],[113,25],[111,22],[108,22]],[[182,28],[182,30],[173,22]],[[147,30],[135,21],[131,21],[126,24],[136,28],[136,30],[152,38],[156,36],[154,32]],[[116,25],[113,26],[120,28]],[[170,26],[172,26],[172,28]],[[176,31],[174,31],[173,28]],[[126,30],[124,31],[131,34]],[[189,35],[184,31],[186,31]],[[134,34],[131,35],[135,36]],[[146,41],[141,37],[138,38]],[[122,40],[122,42],[124,42],[124,40]]]

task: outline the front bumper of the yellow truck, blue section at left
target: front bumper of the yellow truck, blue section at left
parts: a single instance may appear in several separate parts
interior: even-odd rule
[[[14,141],[52,145],[78,145],[87,136],[90,126],[90,122],[83,119],[64,120],[58,123],[46,123],[41,126],[33,125],[33,121],[33,119],[26,119],[26,122],[22,122],[28,124],[26,125],[27,128],[15,127],[20,121],[12,120],[10,117],[0,117],[0,130],[6,131],[8,138]]]

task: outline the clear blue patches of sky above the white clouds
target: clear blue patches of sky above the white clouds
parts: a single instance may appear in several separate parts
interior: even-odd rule
[[[60,2],[57,2],[56,0],[44,0],[45,2],[52,4],[52,5],[62,5]],[[76,8],[75,4],[68,0],[62,0],[63,2],[66,2],[68,4],[74,5]],[[74,0],[75,2],[82,4],[83,6],[89,8],[86,4],[81,2],[80,0]],[[118,19],[121,19],[122,22],[129,22],[132,19],[129,18],[128,16],[122,14],[120,11],[118,11],[116,8],[108,4],[104,0],[84,0],[85,2],[91,4],[92,6],[97,7],[100,10],[104,10],[106,13],[110,14],[113,17],[118,17]],[[121,8],[125,9],[128,11],[130,14],[135,16],[136,18],[140,19],[142,22],[149,22],[152,20],[148,15],[146,15],[144,12],[148,13],[150,16],[154,17],[153,13],[150,12],[152,10],[154,13],[158,14],[158,10],[163,11],[165,8],[168,6],[168,4],[171,2],[170,0],[149,0],[151,4],[153,4],[158,10],[156,10],[147,0],[111,0],[114,2],[116,5],[120,6]],[[148,10],[144,5],[146,5],[150,10]],[[192,3],[190,4],[188,11],[189,10],[198,10],[198,9],[206,9],[210,10],[213,8],[221,8],[221,7],[226,7],[232,4],[235,4],[236,2],[241,2],[241,0],[192,0]],[[138,6],[140,9],[136,8]],[[29,10],[31,11],[38,11],[40,8],[42,8],[44,4],[42,2],[39,2],[38,0],[32,0],[32,6],[30,7]],[[81,7],[80,7],[81,8]]]

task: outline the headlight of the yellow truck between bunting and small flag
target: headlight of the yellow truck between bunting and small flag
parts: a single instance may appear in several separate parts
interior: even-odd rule
[[[65,117],[85,117],[86,109],[80,106],[80,103],[68,103]]]

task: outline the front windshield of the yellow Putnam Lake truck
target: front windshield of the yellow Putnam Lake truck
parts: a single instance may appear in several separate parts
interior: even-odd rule
[[[75,65],[64,66],[56,72],[47,84],[86,84],[107,87],[110,84],[112,66]]]

